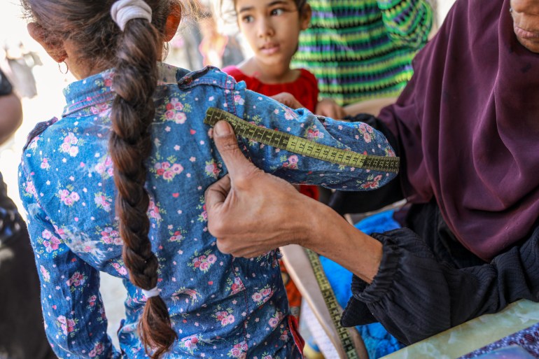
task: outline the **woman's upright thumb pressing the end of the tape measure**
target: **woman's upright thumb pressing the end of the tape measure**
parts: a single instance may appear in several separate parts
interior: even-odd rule
[[[214,126],[214,141],[223,157],[230,178],[244,176],[253,171],[254,164],[246,159],[239,150],[238,140],[232,126],[226,121],[219,121]]]

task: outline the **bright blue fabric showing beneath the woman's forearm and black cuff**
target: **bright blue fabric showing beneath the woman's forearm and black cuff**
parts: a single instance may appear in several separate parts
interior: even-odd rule
[[[357,223],[356,228],[365,234],[395,230],[400,225],[393,219],[393,212],[393,210],[384,211],[367,217]],[[320,256],[320,262],[322,263],[325,276],[328,277],[331,288],[335,292],[337,302],[341,307],[346,307],[346,303],[352,296],[350,288],[352,273],[328,258]],[[358,325],[356,329],[363,338],[363,342],[365,342],[365,348],[370,359],[381,358],[404,347],[380,323]]]

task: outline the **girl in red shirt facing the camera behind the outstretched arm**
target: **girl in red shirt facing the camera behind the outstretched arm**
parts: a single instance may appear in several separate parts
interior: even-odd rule
[[[343,118],[342,107],[330,99],[318,101],[318,81],[306,69],[290,69],[300,31],[309,27],[311,7],[307,0],[234,0],[238,26],[253,50],[253,57],[223,69],[249,90],[274,96],[292,94],[313,113]],[[318,188],[300,185],[300,192],[318,199]],[[299,318],[301,295],[281,262],[291,313]]]

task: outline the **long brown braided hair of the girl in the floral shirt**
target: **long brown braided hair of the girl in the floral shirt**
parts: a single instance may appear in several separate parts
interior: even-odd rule
[[[157,62],[162,52],[169,10],[176,0],[146,0],[152,8],[151,23],[127,22],[121,31],[111,17],[114,0],[21,0],[38,31],[50,44],[69,41],[80,64],[88,69],[115,68],[109,152],[114,164],[116,215],[124,241],[123,260],[131,282],[144,290],[158,283],[158,258],[148,238],[149,196],[144,188],[146,158],[151,153],[150,125],[154,118],[153,93],[158,83]],[[180,3],[177,3],[180,6]],[[139,333],[154,350],[153,359],[168,351],[176,332],[161,297],[150,297],[144,306]]]

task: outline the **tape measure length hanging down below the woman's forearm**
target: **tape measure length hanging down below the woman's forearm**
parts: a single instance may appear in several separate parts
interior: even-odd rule
[[[353,342],[350,337],[350,333],[348,332],[348,329],[343,328],[339,321],[339,318],[341,316],[339,304],[337,304],[335,293],[333,293],[330,282],[325,276],[324,269],[320,262],[320,258],[318,258],[318,254],[314,253],[310,249],[305,248],[305,251],[307,252],[307,256],[309,257],[309,262],[311,262],[311,267],[314,271],[314,276],[316,277],[318,286],[320,287],[320,290],[322,292],[322,297],[324,299],[325,305],[330,311],[331,321],[333,322],[333,325],[335,325],[337,335],[339,336],[339,341],[341,342],[342,348],[346,353],[346,358],[359,359],[358,352],[356,351],[356,347],[353,346]]]

